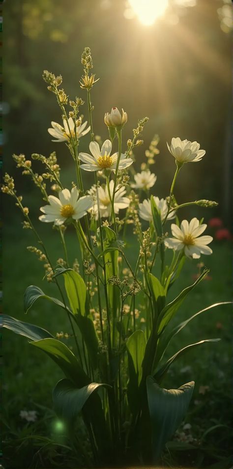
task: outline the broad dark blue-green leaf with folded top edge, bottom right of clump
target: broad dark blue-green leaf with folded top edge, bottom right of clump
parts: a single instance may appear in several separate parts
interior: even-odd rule
[[[178,389],[163,389],[152,376],[146,378],[154,464],[158,462],[165,443],[181,424],[188,409],[193,388],[194,381]]]

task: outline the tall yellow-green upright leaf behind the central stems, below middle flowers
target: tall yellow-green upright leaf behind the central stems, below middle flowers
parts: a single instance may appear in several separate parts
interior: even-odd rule
[[[117,308],[119,307],[119,290],[116,285],[110,285],[108,280],[110,277],[118,275],[118,251],[116,248],[114,250],[108,249],[111,248],[113,243],[117,242],[116,234],[109,227],[101,227],[101,231],[104,234],[104,264],[106,268],[106,280],[107,280],[107,290],[110,308],[113,310],[114,321],[117,317]]]

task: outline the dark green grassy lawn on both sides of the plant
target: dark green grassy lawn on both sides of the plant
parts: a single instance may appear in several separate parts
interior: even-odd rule
[[[43,226],[43,229],[53,261],[56,261],[62,256],[60,241],[51,227]],[[43,231],[41,226],[40,230]],[[4,313],[38,324],[53,335],[60,331],[69,332],[65,313],[52,303],[41,300],[25,316],[23,294],[30,284],[39,286],[51,296],[57,296],[55,285],[42,280],[42,264],[34,254],[26,251],[27,245],[34,244],[31,231],[16,233],[14,227],[9,225],[5,229],[4,240]],[[77,244],[69,232],[67,245],[73,259],[77,256]],[[210,268],[211,277],[204,280],[183,303],[173,325],[205,306],[231,300],[231,246],[228,243],[215,244],[213,251],[212,256],[203,259]],[[135,251],[132,250],[132,253],[133,263]],[[193,283],[193,277],[198,272],[196,265],[197,261],[186,262],[180,279],[171,289],[170,299]],[[204,344],[183,356],[171,367],[164,382],[164,387],[177,388],[188,381],[196,381],[194,397],[184,422],[191,427],[188,425],[189,428],[183,429],[181,426],[175,440],[168,445],[164,453],[166,466],[230,467],[230,315],[229,306],[207,311],[170,344],[167,358],[189,343],[211,337],[222,339],[219,343]],[[52,410],[51,391],[58,379],[62,378],[61,372],[43,352],[27,342],[24,337],[6,330],[3,332],[3,464],[6,468],[75,467],[65,448],[66,442],[56,433],[56,415]],[[20,417],[21,410],[36,410],[37,420],[27,423]],[[40,436],[40,439],[33,436]]]

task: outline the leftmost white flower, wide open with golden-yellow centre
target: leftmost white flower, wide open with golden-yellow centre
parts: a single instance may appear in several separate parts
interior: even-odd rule
[[[90,196],[80,197],[76,187],[71,189],[63,189],[59,192],[59,199],[55,196],[49,196],[50,205],[40,207],[45,213],[41,215],[41,222],[54,222],[55,225],[62,225],[67,218],[79,220],[87,214],[87,210],[93,205],[93,199]]]

